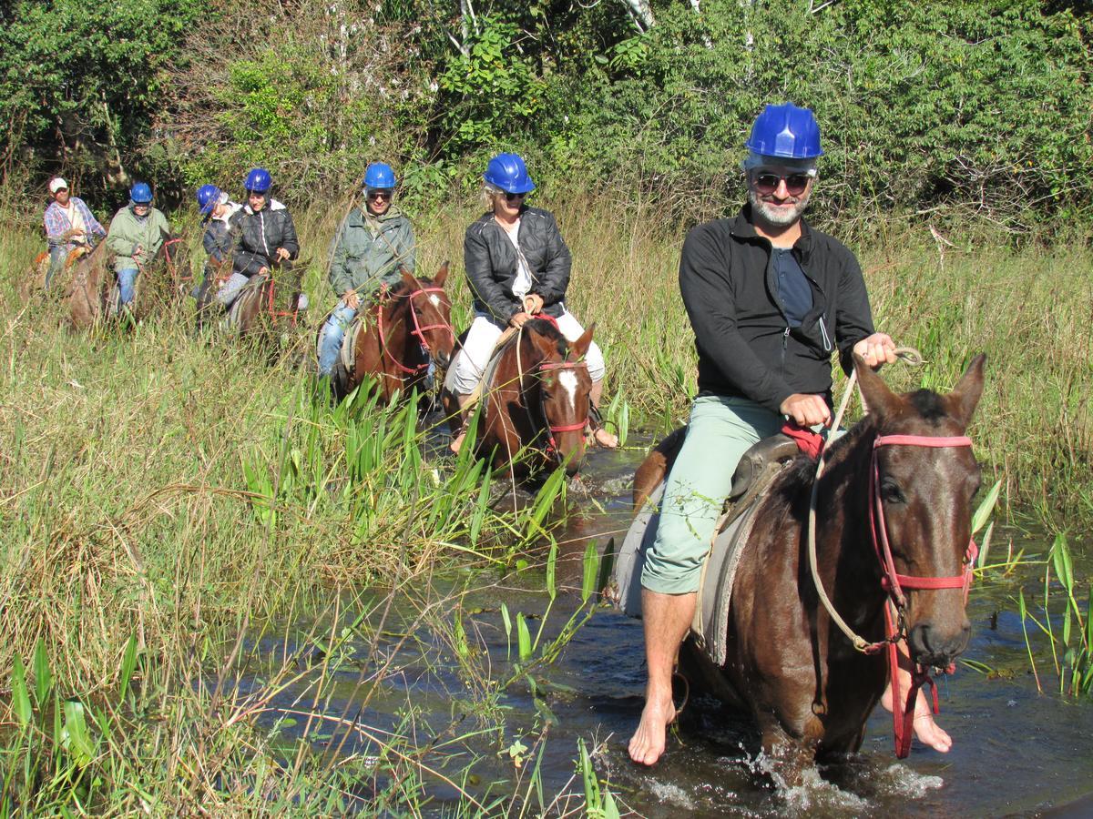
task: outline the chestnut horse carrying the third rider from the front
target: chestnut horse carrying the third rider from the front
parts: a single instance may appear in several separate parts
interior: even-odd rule
[[[345,397],[369,376],[381,401],[396,393],[408,397],[414,388],[423,392],[430,361],[442,373],[447,369],[456,345],[451,300],[444,289],[447,277],[448,262],[432,280],[403,270],[401,282],[357,313],[363,327],[353,345],[353,371],[339,360],[330,379],[336,399]]]

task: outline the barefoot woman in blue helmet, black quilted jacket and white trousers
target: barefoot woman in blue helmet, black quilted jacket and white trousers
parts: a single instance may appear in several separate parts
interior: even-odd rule
[[[474,294],[474,321],[453,367],[448,388],[463,406],[474,391],[497,339],[507,327],[520,327],[531,318],[546,316],[568,341],[585,332],[565,309],[572,258],[553,214],[527,205],[524,198],[536,189],[518,154],[498,154],[490,159],[482,192],[489,211],[467,228],[463,263]],[[592,407],[603,392],[603,354],[592,342],[587,354],[592,379]],[[602,427],[595,429],[601,447],[619,446]],[[459,451],[463,436],[451,443]]]

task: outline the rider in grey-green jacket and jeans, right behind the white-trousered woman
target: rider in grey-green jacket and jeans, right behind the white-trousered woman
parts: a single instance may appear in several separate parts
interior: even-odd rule
[[[362,185],[364,210],[354,206],[334,234],[329,278],[340,300],[319,335],[320,376],[333,369],[345,331],[362,305],[384,285],[398,284],[403,270],[413,273],[413,226],[391,202],[395,182],[390,165],[372,163]]]

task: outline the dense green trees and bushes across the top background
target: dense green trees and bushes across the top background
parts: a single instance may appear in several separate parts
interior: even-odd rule
[[[0,35],[0,145],[9,173],[117,189],[134,167],[176,195],[262,163],[296,200],[379,157],[439,198],[508,147],[549,183],[621,183],[685,216],[730,203],[751,120],[792,99],[820,117],[831,212],[1089,214],[1081,5],[659,0],[649,26],[632,7],[121,0],[92,19],[20,2]]]

